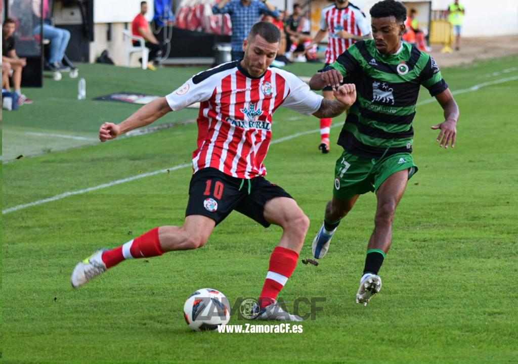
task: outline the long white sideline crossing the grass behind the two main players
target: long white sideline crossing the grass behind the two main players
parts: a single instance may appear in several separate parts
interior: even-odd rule
[[[514,80],[518,80],[518,76],[502,78],[500,80],[479,83],[477,85],[471,86],[469,89],[462,89],[462,90],[453,91],[452,94],[456,95],[456,94],[462,94],[462,93],[465,93],[465,92],[477,91],[477,90],[479,90],[480,88],[482,88],[484,86],[494,85],[494,84],[508,82],[508,81],[514,81]],[[425,104],[429,104],[429,103],[431,103],[433,101],[436,101],[435,98],[430,98],[428,100],[421,101],[420,103],[418,103],[416,105],[418,105],[418,106],[425,105]],[[335,124],[332,127],[338,127],[338,126],[341,126],[341,124]],[[283,137],[283,138],[272,140],[270,144],[281,143],[283,141],[290,140],[290,139],[293,139],[293,138],[297,138],[297,137],[302,136],[302,135],[318,133],[318,132],[320,132],[320,129],[307,130],[306,132],[295,133],[295,134],[292,134],[292,135],[289,135],[289,136],[286,136],[286,137]],[[109,183],[99,184],[99,185],[94,186],[94,187],[84,188],[84,190],[65,192],[65,193],[62,193],[60,195],[55,195],[53,197],[44,198],[42,200],[37,200],[37,201],[34,201],[34,202],[30,202],[30,203],[24,203],[23,205],[18,205],[18,206],[11,207],[11,208],[6,209],[6,210],[2,210],[2,215],[8,214],[8,213],[13,212],[13,211],[22,210],[22,209],[25,209],[27,207],[33,207],[33,206],[41,205],[42,203],[47,203],[47,202],[52,202],[52,201],[56,201],[56,200],[61,200],[62,198],[65,198],[65,197],[68,197],[68,196],[80,195],[80,194],[83,194],[83,193],[97,191],[97,190],[100,190],[102,188],[111,187],[111,186],[118,185],[118,184],[121,184],[121,183],[138,180],[140,178],[154,176],[155,174],[167,172],[167,170],[173,171],[173,170],[177,170],[177,169],[181,169],[181,168],[186,168],[186,167],[190,167],[190,166],[192,166],[192,163],[185,163],[185,164],[181,164],[181,165],[174,166],[174,167],[171,167],[171,168],[165,168],[165,169],[160,169],[160,170],[153,171],[153,172],[142,173],[142,174],[138,174],[137,176],[124,178],[124,179],[113,181],[113,182],[109,182]]]

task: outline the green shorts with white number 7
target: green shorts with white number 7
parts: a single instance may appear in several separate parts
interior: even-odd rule
[[[409,169],[408,179],[418,171],[410,153],[370,159],[343,151],[336,161],[333,196],[340,200],[349,200],[355,195],[376,192],[392,174],[405,169]]]

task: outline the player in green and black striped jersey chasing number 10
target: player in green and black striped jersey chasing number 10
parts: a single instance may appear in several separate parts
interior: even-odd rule
[[[381,289],[378,271],[392,243],[394,212],[408,179],[418,168],[412,158],[415,104],[420,86],[444,110],[440,146],[455,146],[459,111],[434,59],[401,41],[407,10],[394,0],[370,9],[373,39],[354,43],[335,63],[315,74],[313,90],[354,83],[356,102],[350,108],[338,144],[344,151],[336,163],[333,199],[327,203],[322,228],[313,241],[313,255],[322,258],[341,219],[359,195],[376,192],[375,228],[367,245],[364,274],[356,302],[367,304]]]

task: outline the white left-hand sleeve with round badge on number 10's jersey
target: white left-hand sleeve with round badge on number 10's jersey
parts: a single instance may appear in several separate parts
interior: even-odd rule
[[[212,79],[209,77],[196,82],[196,76],[192,77],[178,89],[166,95],[167,104],[169,104],[171,110],[178,111],[194,103],[207,101],[215,89]]]

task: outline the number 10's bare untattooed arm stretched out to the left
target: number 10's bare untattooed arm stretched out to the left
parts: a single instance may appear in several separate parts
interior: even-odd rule
[[[115,139],[130,130],[146,126],[172,111],[165,97],[157,98],[135,111],[120,124],[104,123],[99,128],[100,141]]]

